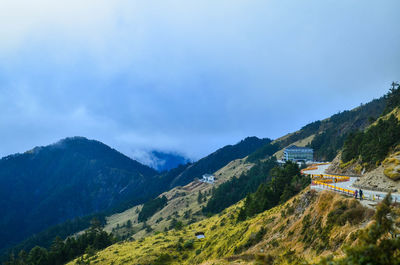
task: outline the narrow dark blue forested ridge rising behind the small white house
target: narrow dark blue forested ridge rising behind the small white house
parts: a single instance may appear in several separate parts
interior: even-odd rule
[[[184,171],[172,179],[170,187],[186,185],[195,178],[201,178],[203,174],[214,173],[232,160],[244,158],[271,141],[272,140],[268,138],[259,139],[253,136],[247,137],[235,145],[222,147],[214,153],[187,166]]]

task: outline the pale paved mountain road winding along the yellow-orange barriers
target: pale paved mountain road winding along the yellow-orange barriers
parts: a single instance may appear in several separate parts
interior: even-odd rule
[[[325,171],[328,169],[329,166],[330,166],[330,164],[320,165],[320,166],[317,166],[318,167],[317,169],[307,170],[304,173],[305,174],[313,174],[313,175],[325,174]],[[357,179],[358,178],[356,178],[356,177],[350,177],[349,181],[338,182],[338,183],[331,184],[331,185],[336,185],[337,187],[355,191],[355,190],[359,190],[358,188],[353,187],[353,184]],[[317,190],[326,189],[326,187],[324,187],[324,186],[317,186],[317,185],[311,185],[311,188],[317,189]],[[387,195],[386,192],[381,192],[381,191],[364,190],[364,189],[362,191],[363,191],[365,199],[370,200],[370,201],[382,200]],[[393,201],[400,202],[400,194],[392,193],[392,199],[393,199]]]

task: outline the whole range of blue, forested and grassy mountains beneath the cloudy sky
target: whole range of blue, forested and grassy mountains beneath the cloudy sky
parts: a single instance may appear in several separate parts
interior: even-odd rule
[[[103,213],[103,217],[109,216],[101,221],[117,239],[107,236],[102,247],[83,244],[70,255],[86,253],[76,262],[275,264],[276,260],[276,264],[307,264],[321,253],[343,255],[338,248],[364,233],[363,223],[372,221],[373,213],[351,199],[310,192],[305,188],[310,179],[301,175],[295,164],[277,166],[276,159],[289,145],[308,146],[314,149],[316,159],[334,159],[332,173],[348,170],[370,184],[369,179],[379,169],[382,183],[398,185],[399,102],[400,88],[393,89],[379,99],[312,122],[274,141],[248,137],[193,163],[181,163],[185,160],[174,155],[154,154],[176,165],[162,172],[83,137],[4,157],[0,160],[0,209],[5,213],[0,217],[4,227],[0,248],[29,236],[16,250],[29,251],[34,243],[49,247],[54,235],[71,226],[71,219]],[[214,186],[198,180],[206,173],[216,176]],[[146,218],[139,218],[144,211]],[[100,226],[88,231],[105,235]],[[347,234],[337,233],[343,226]],[[70,229],[62,237],[78,231]],[[199,233],[210,238],[195,241],[192,234]],[[227,240],[221,239],[226,235]],[[122,239],[135,242],[121,242],[94,255],[93,251]],[[65,244],[60,240],[52,244],[50,252],[33,248],[28,260],[41,260],[43,255],[57,257],[63,255],[65,246],[75,246],[71,238]],[[357,242],[363,240],[366,237]],[[306,253],[292,249],[297,246]],[[260,254],[264,251],[268,255]],[[19,260],[26,259],[24,253],[21,255]]]

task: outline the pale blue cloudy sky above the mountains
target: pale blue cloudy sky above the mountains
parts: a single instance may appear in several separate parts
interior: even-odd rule
[[[1,0],[0,156],[85,136],[199,159],[384,95],[400,1]]]

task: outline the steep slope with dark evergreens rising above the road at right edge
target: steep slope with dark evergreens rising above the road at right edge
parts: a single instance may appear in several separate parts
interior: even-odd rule
[[[364,130],[346,138],[341,152],[328,169],[332,173],[358,175],[355,186],[363,189],[400,190],[400,87],[385,96],[383,115]]]

